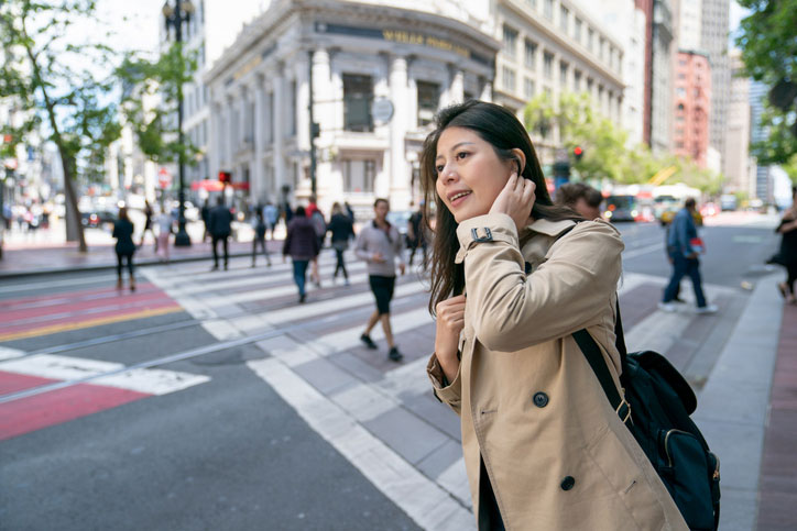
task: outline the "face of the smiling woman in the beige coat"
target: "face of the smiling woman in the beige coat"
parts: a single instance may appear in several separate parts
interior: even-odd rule
[[[448,128],[437,141],[437,195],[457,223],[483,215],[517,167],[469,129]]]

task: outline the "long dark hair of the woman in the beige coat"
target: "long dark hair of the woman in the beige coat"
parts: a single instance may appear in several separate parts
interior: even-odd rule
[[[473,131],[484,142],[492,145],[498,157],[502,161],[514,159],[512,150],[517,147],[526,156],[526,166],[521,173],[522,177],[534,181],[536,200],[531,215],[534,219],[582,220],[578,213],[567,207],[555,206],[548,195],[543,169],[539,167],[537,154],[534,151],[528,133],[523,124],[507,109],[484,101],[470,100],[443,109],[435,117],[436,129],[424,141],[421,154],[421,182],[424,189],[424,219],[429,220],[430,206],[437,206],[435,224],[435,244],[432,251],[432,297],[429,311],[434,314],[438,302],[454,295],[460,295],[465,289],[465,266],[455,264],[454,259],[459,251],[457,240],[458,223],[454,214],[437,195],[435,158],[437,157],[437,141],[448,128],[463,128]]]

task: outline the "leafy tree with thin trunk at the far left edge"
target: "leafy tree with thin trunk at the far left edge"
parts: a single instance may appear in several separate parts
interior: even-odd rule
[[[77,240],[81,252],[87,247],[74,181],[81,167],[101,165],[107,146],[120,134],[116,106],[103,102],[113,84],[98,75],[109,65],[111,51],[96,43],[75,44],[67,35],[94,12],[95,0],[0,2],[0,99],[12,100],[25,115],[25,123],[11,134],[22,141],[32,128],[48,128],[64,170],[67,241]]]

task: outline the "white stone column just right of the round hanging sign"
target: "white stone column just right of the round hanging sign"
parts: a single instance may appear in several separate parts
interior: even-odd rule
[[[390,99],[393,117],[390,122],[390,198],[393,208],[403,210],[410,206],[410,179],[404,139],[407,132],[407,60],[394,56],[390,64]]]

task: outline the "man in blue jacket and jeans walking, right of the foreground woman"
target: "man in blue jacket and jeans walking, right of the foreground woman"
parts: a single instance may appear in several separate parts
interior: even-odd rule
[[[658,308],[664,311],[675,311],[673,301],[678,295],[680,280],[688,276],[691,279],[697,299],[698,313],[714,313],[717,307],[706,302],[703,295],[702,278],[700,277],[700,261],[698,254],[705,253],[706,247],[702,240],[698,237],[697,224],[695,223],[695,199],[687,198],[684,208],[673,218],[673,226],[669,229],[667,248],[673,262],[673,276],[664,290],[664,297]]]

